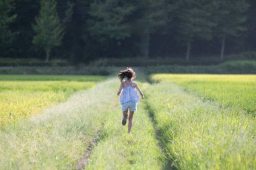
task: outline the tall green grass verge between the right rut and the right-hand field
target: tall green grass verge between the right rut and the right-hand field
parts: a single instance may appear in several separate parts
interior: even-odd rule
[[[254,169],[255,118],[170,82],[146,92],[166,157],[177,169]]]

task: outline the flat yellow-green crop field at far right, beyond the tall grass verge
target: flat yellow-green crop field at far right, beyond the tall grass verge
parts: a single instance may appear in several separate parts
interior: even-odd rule
[[[256,115],[256,75],[152,75],[154,82],[171,81],[206,98]]]

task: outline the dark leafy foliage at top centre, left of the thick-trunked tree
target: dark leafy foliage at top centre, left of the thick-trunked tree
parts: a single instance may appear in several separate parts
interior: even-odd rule
[[[89,11],[92,19],[88,21],[91,34],[117,40],[131,36],[131,25],[127,19],[134,8],[129,1],[94,1]]]

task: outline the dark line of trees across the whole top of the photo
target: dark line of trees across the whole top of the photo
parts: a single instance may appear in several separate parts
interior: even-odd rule
[[[0,57],[219,55],[255,50],[251,0],[0,0]]]

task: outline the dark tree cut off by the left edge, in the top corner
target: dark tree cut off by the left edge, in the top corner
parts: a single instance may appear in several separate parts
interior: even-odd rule
[[[0,0],[0,49],[13,40],[14,32],[9,25],[15,21],[16,15],[11,13],[14,9],[13,0]]]

